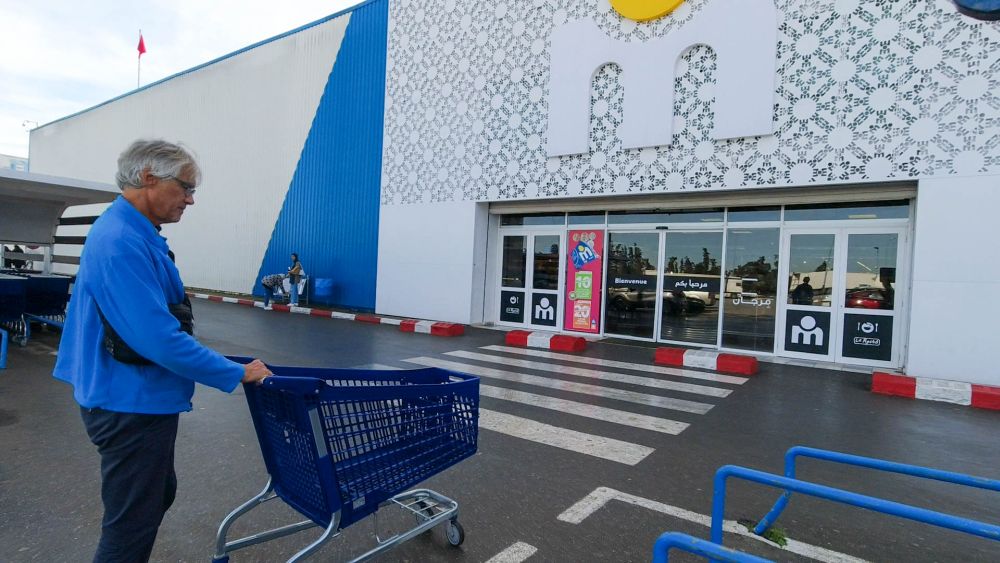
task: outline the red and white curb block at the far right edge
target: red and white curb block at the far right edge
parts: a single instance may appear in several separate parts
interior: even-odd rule
[[[910,377],[901,373],[884,371],[872,373],[872,393],[1000,410],[1000,387],[946,379]]]

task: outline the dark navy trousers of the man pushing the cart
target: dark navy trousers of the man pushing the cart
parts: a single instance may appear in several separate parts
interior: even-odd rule
[[[90,441],[101,454],[104,519],[94,563],[144,563],[177,493],[178,415],[99,408],[81,408],[81,413]]]

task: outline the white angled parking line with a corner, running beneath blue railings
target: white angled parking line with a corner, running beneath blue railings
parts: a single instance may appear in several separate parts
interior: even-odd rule
[[[608,501],[618,500],[621,502],[626,502],[628,504],[633,504],[635,506],[641,506],[643,508],[660,512],[668,516],[673,516],[680,520],[686,520],[694,524],[700,524],[706,528],[712,526],[711,516],[705,514],[698,514],[697,512],[691,512],[690,510],[685,510],[683,508],[672,506],[669,504],[664,504],[659,501],[655,501],[648,498],[638,497],[635,495],[630,495],[628,493],[623,493],[621,491],[616,491],[609,487],[598,487],[594,489],[592,493],[581,499],[579,502],[573,506],[567,508],[562,514],[556,517],[557,520],[562,522],[568,522],[570,524],[579,524],[587,519],[588,516],[597,512],[598,509],[602,508]],[[823,547],[818,547],[815,545],[803,543],[791,538],[788,539],[788,545],[781,548],[777,544],[771,542],[770,540],[764,539],[757,534],[747,530],[743,525],[738,524],[734,520],[724,520],[722,523],[723,531],[757,540],[759,542],[765,543],[772,547],[778,549],[784,549],[785,551],[794,553],[796,555],[801,555],[803,557],[808,557],[815,561],[823,561],[825,563],[866,563],[866,560],[847,555],[845,553],[840,553],[837,551],[829,550]]]

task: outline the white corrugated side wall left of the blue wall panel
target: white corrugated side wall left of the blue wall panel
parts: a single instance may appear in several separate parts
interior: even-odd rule
[[[249,293],[349,19],[344,14],[36,129],[31,170],[113,182],[118,154],[132,140],[185,143],[198,155],[202,185],[184,219],[163,229],[184,283]]]

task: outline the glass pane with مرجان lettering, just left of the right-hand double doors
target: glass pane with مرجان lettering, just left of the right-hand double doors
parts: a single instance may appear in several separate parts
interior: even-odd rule
[[[722,346],[774,351],[778,229],[731,229],[726,237]]]

